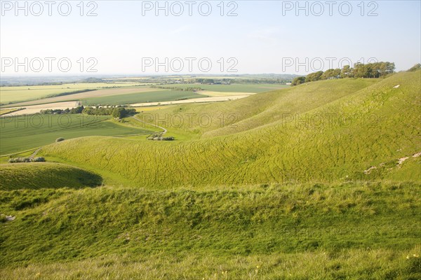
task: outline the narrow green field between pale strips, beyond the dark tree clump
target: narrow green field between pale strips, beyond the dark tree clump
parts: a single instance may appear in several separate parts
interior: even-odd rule
[[[156,90],[156,89],[152,89]],[[135,104],[146,102],[163,102],[174,101],[180,99],[193,99],[199,97],[206,97],[206,95],[198,94],[196,92],[187,92],[179,90],[157,90],[151,92],[139,92],[130,94],[119,94],[107,97],[92,97],[83,99],[82,104],[93,106],[97,104],[107,105],[121,105],[121,104]]]

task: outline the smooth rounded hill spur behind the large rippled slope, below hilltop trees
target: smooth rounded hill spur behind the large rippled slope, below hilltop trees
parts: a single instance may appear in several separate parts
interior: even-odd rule
[[[255,94],[232,102],[173,106],[147,112],[143,118],[151,123],[159,123],[164,127],[189,134],[199,134],[201,137],[234,134],[269,125],[285,118],[284,114],[316,109],[378,81],[377,79],[328,80],[312,83],[310,86],[288,87],[279,91]],[[180,121],[179,118],[183,120]]]

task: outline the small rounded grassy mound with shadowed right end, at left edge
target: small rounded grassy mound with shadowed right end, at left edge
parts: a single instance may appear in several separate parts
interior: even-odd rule
[[[98,186],[100,176],[53,162],[0,165],[0,190],[82,188]]]

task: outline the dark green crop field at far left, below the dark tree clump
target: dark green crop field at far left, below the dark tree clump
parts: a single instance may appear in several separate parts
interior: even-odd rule
[[[17,153],[59,137],[117,136],[150,133],[150,130],[116,123],[109,116],[32,115],[0,118],[0,155]]]

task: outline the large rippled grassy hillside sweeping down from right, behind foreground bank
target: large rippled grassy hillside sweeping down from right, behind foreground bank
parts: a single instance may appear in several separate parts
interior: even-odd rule
[[[356,91],[340,96],[338,90],[342,87],[335,88],[335,85],[342,85],[338,81],[300,85],[294,90],[300,92],[300,88],[304,88],[307,99],[305,94],[302,97],[298,94],[299,106],[288,106],[292,97],[285,102],[283,97],[290,94],[289,90],[232,102],[231,108],[244,109],[243,102],[249,102],[250,107],[255,105],[258,107],[255,110],[260,110],[257,101],[264,100],[264,110],[243,118],[234,127],[235,134],[227,135],[210,128],[198,133],[214,132],[222,136],[159,144],[81,138],[53,144],[42,153],[81,167],[105,169],[131,179],[133,185],[148,188],[285,181],[371,181],[399,179],[403,172],[411,174],[406,180],[420,181],[420,157],[398,164],[399,158],[420,152],[419,73],[398,73],[384,80],[370,80],[364,82],[366,87],[363,85],[361,90],[361,80],[346,80],[349,83],[346,87],[355,83]],[[401,86],[394,88],[397,84]],[[328,97],[323,99],[324,104],[316,104],[319,106],[315,108],[315,92],[325,92],[323,89]],[[282,118],[279,110],[283,108],[288,110],[288,118],[293,116],[293,119]],[[272,113],[272,122],[268,121],[269,113]],[[101,146],[96,145],[98,141]],[[71,152],[76,148],[81,153]],[[126,159],[125,165],[121,165],[120,158]],[[366,174],[364,171],[370,167],[377,168]]]

